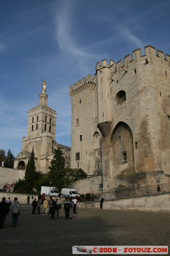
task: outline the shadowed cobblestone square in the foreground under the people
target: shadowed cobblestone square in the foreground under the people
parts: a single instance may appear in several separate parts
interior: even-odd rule
[[[73,245],[170,245],[169,212],[81,208],[72,220],[64,219],[63,210],[59,220],[51,220],[31,210],[21,205],[17,228],[11,227],[11,214],[6,217],[1,256],[72,255]]]

